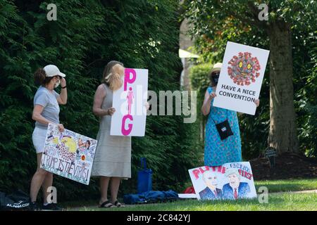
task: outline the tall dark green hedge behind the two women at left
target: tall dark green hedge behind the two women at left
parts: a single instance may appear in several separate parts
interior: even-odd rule
[[[0,189],[28,192],[36,169],[32,146],[33,72],[55,64],[66,73],[68,104],[60,120],[67,129],[97,136],[92,114],[94,91],[109,60],[127,68],[148,68],[149,89],[177,90],[178,2],[54,1],[57,20],[46,20],[40,1],[0,1]],[[58,90],[59,91],[59,90]],[[143,138],[132,139],[132,179],[123,193],[134,192],[139,158],[154,171],[154,188],[180,189],[187,169],[197,166],[194,124],[180,116],[149,116]],[[97,198],[97,179],[89,186],[55,176],[59,200]]]

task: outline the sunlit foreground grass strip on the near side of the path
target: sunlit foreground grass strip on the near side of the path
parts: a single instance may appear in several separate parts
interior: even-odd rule
[[[68,209],[72,210],[72,209]],[[81,207],[75,210],[82,211],[263,211],[263,210],[317,210],[316,193],[282,193],[270,194],[268,203],[259,203],[254,200],[239,201],[198,201],[198,200],[178,200],[173,203],[159,203],[149,205],[135,205],[124,208],[101,209],[98,207]]]

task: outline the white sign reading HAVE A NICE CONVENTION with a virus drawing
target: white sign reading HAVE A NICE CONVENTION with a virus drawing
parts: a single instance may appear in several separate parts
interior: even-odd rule
[[[213,106],[254,115],[269,52],[228,41]]]

